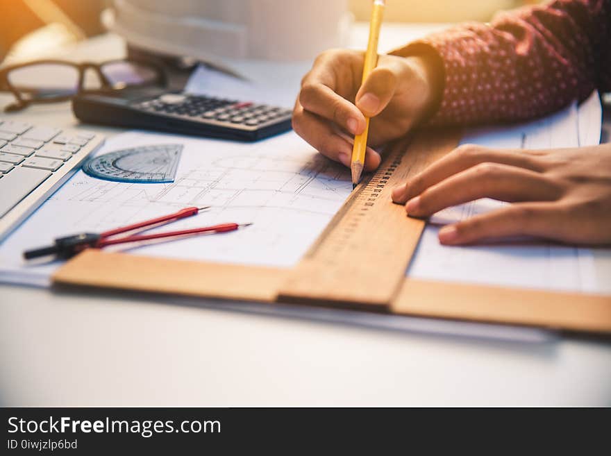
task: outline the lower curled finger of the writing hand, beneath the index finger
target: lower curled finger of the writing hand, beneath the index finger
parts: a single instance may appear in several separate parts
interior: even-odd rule
[[[293,112],[292,124],[293,130],[317,151],[350,167],[352,145],[338,135],[328,121],[297,106]]]

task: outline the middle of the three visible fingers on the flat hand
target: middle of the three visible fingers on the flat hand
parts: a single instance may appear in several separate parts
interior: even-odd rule
[[[501,201],[553,201],[562,189],[529,169],[507,164],[480,163],[428,187],[405,204],[412,217],[428,217],[450,206],[480,198]]]

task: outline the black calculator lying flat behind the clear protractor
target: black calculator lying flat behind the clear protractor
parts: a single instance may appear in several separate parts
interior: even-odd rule
[[[74,115],[90,124],[257,141],[291,128],[292,111],[244,100],[151,89],[76,96]]]

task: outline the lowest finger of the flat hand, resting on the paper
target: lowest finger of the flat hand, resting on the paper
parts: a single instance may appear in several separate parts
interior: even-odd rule
[[[439,239],[446,245],[519,235],[561,239],[562,223],[558,223],[556,212],[552,203],[516,203],[444,226]]]

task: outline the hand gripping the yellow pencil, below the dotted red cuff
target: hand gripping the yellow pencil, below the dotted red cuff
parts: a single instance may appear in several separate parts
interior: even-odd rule
[[[383,55],[361,87],[364,58],[361,51],[345,49],[321,53],[301,81],[293,111],[296,133],[346,167],[353,136],[365,130],[365,116],[371,117],[369,145],[405,135],[434,105],[442,74],[432,58]],[[365,170],[376,169],[380,161],[368,147]]]

